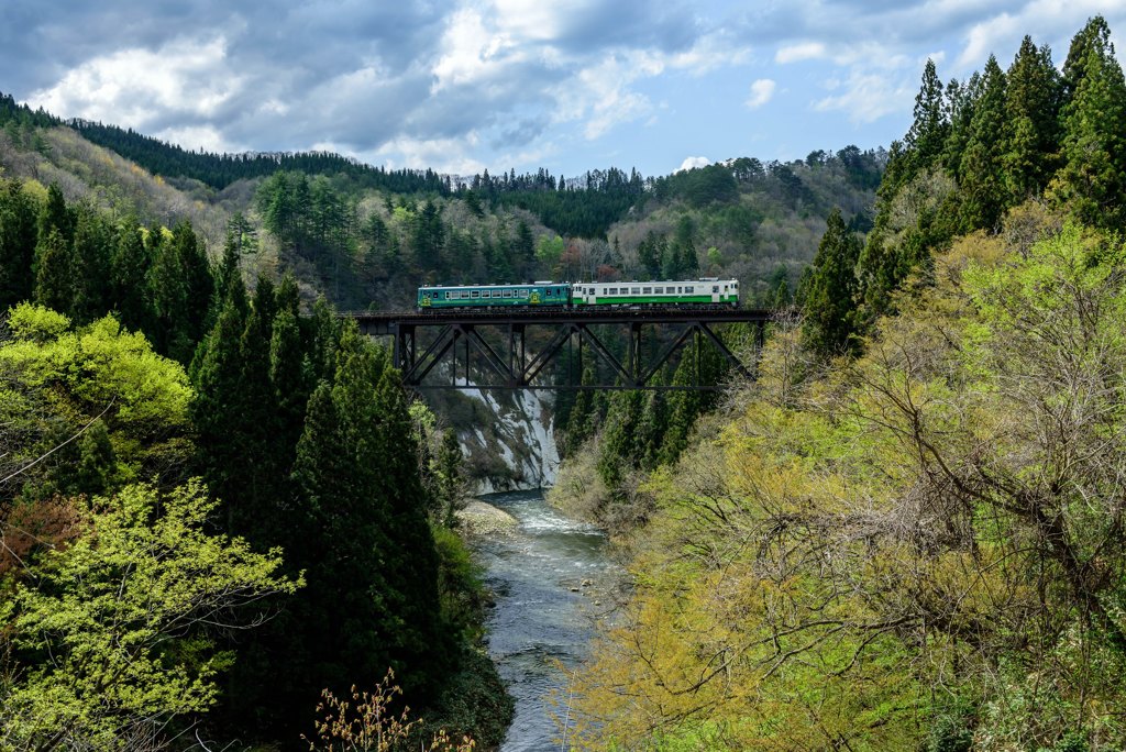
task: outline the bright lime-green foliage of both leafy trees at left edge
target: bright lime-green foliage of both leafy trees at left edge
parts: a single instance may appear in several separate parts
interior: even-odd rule
[[[7,330],[0,747],[155,742],[214,704],[230,664],[214,629],[295,582],[277,550],[206,530],[197,482],[173,487],[189,459],[177,364],[109,316],[74,330],[24,303]]]

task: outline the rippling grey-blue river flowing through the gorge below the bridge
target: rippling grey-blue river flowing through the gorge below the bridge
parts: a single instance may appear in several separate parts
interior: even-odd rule
[[[620,582],[606,536],[568,519],[539,491],[482,498],[519,521],[508,536],[475,546],[497,605],[489,618],[489,653],[516,700],[501,752],[558,750],[566,715],[566,674],[587,655],[593,620],[609,618],[606,593]],[[561,690],[562,705],[548,701]]]

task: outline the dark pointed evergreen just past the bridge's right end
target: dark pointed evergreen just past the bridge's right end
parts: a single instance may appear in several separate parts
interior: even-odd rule
[[[857,343],[857,261],[860,244],[833,209],[803,286],[806,346],[822,357],[854,352]]]

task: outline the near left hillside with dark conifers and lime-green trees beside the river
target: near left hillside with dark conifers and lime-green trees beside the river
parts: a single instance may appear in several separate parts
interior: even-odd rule
[[[241,248],[0,178],[0,747],[329,745],[322,690],[392,669],[494,743],[461,454],[292,275],[249,293]]]

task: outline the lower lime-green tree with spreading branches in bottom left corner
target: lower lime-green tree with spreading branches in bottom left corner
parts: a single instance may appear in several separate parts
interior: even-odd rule
[[[231,656],[203,628],[253,621],[243,607],[300,583],[278,576],[278,550],[206,532],[213,507],[195,483],[79,510],[83,535],[44,553],[6,605],[30,668],[0,682],[0,746],[127,749],[215,702]]]

